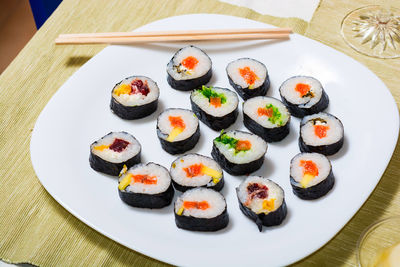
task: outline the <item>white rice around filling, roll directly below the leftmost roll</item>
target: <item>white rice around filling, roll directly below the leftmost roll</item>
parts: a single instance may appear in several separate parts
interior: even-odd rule
[[[157,184],[144,184],[144,183],[135,183],[132,181],[128,187],[125,188],[125,191],[132,193],[142,193],[142,194],[158,194],[165,192],[171,184],[171,177],[169,176],[169,172],[166,168],[161,165],[155,164],[153,162],[149,162],[147,164],[138,164],[131,167],[125,175],[122,175],[119,178],[121,181],[126,175],[149,175],[155,176],[157,178]]]

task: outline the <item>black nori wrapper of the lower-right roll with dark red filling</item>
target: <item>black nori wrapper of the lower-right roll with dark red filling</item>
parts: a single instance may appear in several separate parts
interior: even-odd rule
[[[236,191],[238,189],[236,188]],[[287,215],[287,208],[286,208],[286,202],[285,199],[283,199],[282,205],[275,211],[270,212],[268,214],[265,213],[260,213],[256,214],[254,211],[243,205],[242,202],[240,202],[239,197],[239,207],[240,210],[243,212],[244,215],[249,217],[252,221],[254,221],[258,227],[258,230],[261,232],[262,231],[262,226],[275,226],[279,225],[283,222],[283,220],[286,218]]]

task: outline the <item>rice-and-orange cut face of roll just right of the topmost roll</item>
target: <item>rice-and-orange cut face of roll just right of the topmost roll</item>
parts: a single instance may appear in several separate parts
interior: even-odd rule
[[[248,89],[260,87],[268,75],[261,62],[250,58],[241,58],[229,63],[227,73],[236,85]]]

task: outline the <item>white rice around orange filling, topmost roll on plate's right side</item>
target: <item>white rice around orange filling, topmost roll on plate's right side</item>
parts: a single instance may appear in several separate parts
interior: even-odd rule
[[[310,92],[312,92],[314,96],[301,97],[300,93],[295,90],[298,83],[310,85]],[[284,81],[279,88],[282,97],[292,104],[299,105],[301,108],[309,108],[318,103],[322,97],[322,90],[321,83],[317,79],[308,76],[289,78]]]

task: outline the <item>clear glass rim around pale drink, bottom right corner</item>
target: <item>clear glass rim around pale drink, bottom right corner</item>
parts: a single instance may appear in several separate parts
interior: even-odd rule
[[[390,217],[369,226],[357,244],[357,261],[361,267],[375,266],[377,257],[400,243],[400,216]]]

